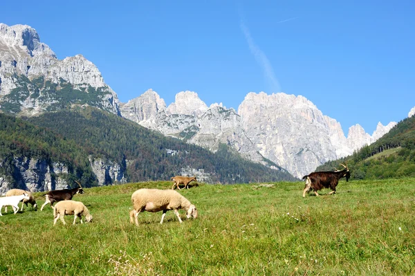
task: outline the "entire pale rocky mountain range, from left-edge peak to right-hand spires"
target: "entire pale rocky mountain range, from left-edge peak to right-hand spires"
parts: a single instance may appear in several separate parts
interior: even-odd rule
[[[238,110],[222,104],[208,107],[192,91],[178,93],[168,107],[151,89],[121,103],[98,68],[82,55],[59,60],[34,28],[0,24],[1,111],[38,116],[82,104],[212,152],[228,145],[243,158],[282,167],[296,177],[353,154],[396,125],[379,122],[371,135],[354,125],[346,137],[340,123],[311,101],[286,93],[248,93]]]

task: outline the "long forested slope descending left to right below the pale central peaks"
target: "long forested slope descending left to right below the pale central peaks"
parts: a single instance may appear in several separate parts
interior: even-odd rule
[[[226,145],[213,154],[93,107],[44,113],[26,120],[74,141],[88,156],[122,164],[128,181],[167,180],[183,172],[205,176],[211,183],[295,180],[284,169],[252,163]]]

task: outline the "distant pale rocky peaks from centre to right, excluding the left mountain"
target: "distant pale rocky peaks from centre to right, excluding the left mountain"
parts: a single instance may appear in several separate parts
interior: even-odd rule
[[[346,138],[339,122],[301,95],[264,92],[248,93],[237,112],[222,104],[208,107],[190,91],[178,93],[176,102],[165,109],[164,100],[150,89],[124,104],[121,113],[144,127],[211,151],[224,143],[249,160],[270,167],[275,163],[297,177],[328,160],[353,154],[396,125],[379,123],[372,136],[356,125]]]

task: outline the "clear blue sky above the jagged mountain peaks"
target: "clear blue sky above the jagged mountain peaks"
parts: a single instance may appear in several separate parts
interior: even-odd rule
[[[3,1],[59,59],[81,53],[122,102],[195,91],[237,109],[250,91],[304,95],[347,135],[415,106],[414,1]]]

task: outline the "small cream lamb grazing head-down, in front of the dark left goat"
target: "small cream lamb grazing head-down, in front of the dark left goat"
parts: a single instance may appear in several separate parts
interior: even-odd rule
[[[89,213],[88,208],[84,205],[84,203],[80,201],[59,201],[56,203],[55,208],[53,208],[53,226],[55,226],[57,219],[61,219],[62,223],[65,223],[64,216],[65,214],[73,214],[73,224],[75,224],[76,218],[79,217],[81,223],[82,221],[82,214],[84,215],[86,222],[92,221],[92,215]]]

